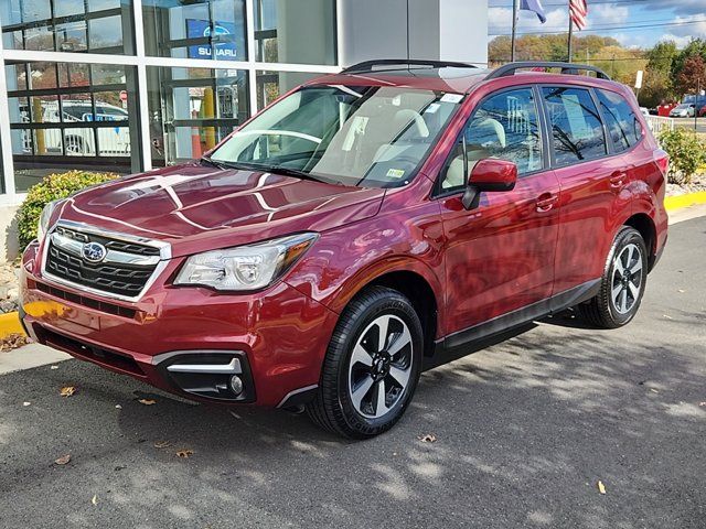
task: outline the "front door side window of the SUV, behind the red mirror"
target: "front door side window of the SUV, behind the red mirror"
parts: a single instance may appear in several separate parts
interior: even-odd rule
[[[518,174],[542,169],[542,138],[531,88],[503,91],[481,102],[454,148],[441,188],[464,187],[468,171],[485,158],[511,161]]]

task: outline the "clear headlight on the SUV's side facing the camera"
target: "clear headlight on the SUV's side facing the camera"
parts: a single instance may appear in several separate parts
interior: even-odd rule
[[[317,237],[317,234],[299,234],[199,253],[186,259],[174,284],[235,291],[261,289],[281,277]]]

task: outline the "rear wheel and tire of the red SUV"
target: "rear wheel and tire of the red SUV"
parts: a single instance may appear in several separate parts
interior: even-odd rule
[[[621,269],[627,269],[628,273],[622,274]],[[597,327],[621,327],[638,313],[646,281],[648,248],[644,239],[637,229],[623,226],[608,252],[600,292],[579,304],[578,312]]]

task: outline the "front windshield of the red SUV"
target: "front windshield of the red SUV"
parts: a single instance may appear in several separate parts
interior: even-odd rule
[[[461,99],[400,87],[307,87],[235,132],[211,160],[395,187],[409,183]]]

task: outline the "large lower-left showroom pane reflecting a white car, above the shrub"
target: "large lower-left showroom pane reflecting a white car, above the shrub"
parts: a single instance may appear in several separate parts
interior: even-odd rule
[[[9,98],[19,192],[53,172],[142,170],[140,151],[131,148],[139,142],[137,116],[129,110],[137,104],[135,67],[19,63],[7,68],[24,72],[25,66],[29,86],[11,87]]]

